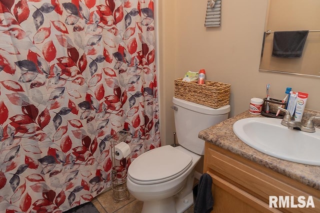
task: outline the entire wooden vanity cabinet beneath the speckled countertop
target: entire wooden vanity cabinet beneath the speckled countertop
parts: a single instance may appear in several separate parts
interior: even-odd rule
[[[320,213],[319,190],[208,142],[203,172],[212,178],[212,213]],[[312,196],[315,208],[269,208],[269,196],[294,196],[294,204]]]

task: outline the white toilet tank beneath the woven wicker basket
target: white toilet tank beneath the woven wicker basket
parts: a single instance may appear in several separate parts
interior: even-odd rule
[[[175,132],[178,143],[199,155],[204,155],[204,141],[198,133],[228,118],[230,105],[213,109],[173,97]]]

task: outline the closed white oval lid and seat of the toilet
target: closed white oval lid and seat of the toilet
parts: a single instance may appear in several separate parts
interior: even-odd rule
[[[191,163],[191,156],[167,145],[137,157],[128,168],[128,176],[137,184],[162,183],[178,177]]]

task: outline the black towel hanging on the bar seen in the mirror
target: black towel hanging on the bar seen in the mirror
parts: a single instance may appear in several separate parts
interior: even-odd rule
[[[272,56],[300,58],[308,32],[308,30],[274,32]]]

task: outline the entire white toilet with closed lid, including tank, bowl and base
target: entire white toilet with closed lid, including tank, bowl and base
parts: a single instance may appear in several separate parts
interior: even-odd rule
[[[127,188],[143,202],[142,213],[182,213],[193,204],[194,168],[204,154],[199,131],[228,118],[230,106],[213,109],[173,97],[180,146],[149,150],[130,164]]]

